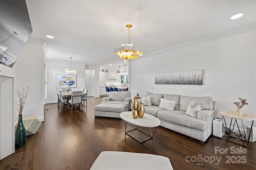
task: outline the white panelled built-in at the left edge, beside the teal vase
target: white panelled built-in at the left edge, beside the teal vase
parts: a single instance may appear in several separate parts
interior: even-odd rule
[[[0,73],[0,160],[14,153],[14,77]]]

